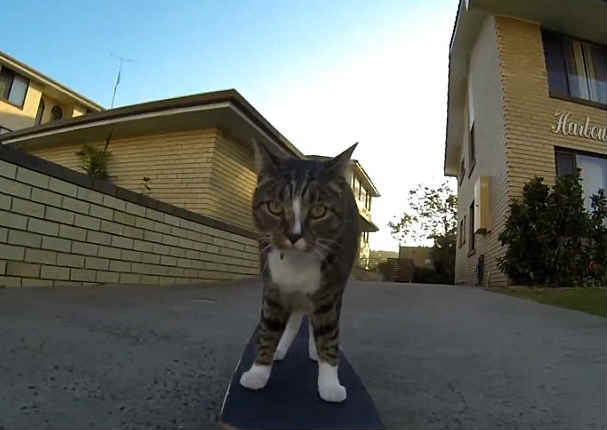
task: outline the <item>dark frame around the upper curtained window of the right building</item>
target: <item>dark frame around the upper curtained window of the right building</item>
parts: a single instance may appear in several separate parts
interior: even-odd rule
[[[563,41],[576,41],[589,43],[591,45],[597,46],[603,50],[607,50],[607,45],[601,45],[600,43],[593,42],[587,39],[579,39],[576,37],[571,37],[569,35],[559,33],[552,30],[541,29],[541,37],[542,37],[542,45],[544,51],[544,61],[546,65],[546,80],[548,84],[548,95],[551,98],[565,100],[572,103],[583,104],[587,106],[592,106],[595,108],[599,108],[602,110],[607,110],[607,103],[600,103],[594,100],[583,99],[580,97],[575,97],[571,95],[571,88],[569,87],[569,72],[567,70],[567,60],[565,58],[565,50],[563,46]],[[553,58],[552,55],[549,55],[548,50],[557,49],[556,42],[558,43],[558,57]],[[550,48],[546,48],[550,46]],[[552,52],[554,54],[555,52]],[[562,76],[559,76],[560,74]],[[561,82],[559,82],[561,81]]]

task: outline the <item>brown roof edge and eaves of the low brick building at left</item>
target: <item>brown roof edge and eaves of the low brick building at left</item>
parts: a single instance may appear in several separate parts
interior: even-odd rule
[[[244,121],[243,121],[244,119]],[[246,123],[246,124],[245,124]],[[222,126],[238,137],[269,140],[299,158],[303,154],[234,89],[195,94],[94,112],[0,135],[0,143],[103,140],[170,130]]]

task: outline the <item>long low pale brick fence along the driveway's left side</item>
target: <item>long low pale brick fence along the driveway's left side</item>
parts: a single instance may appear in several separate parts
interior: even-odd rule
[[[253,232],[0,146],[0,287],[255,277]]]

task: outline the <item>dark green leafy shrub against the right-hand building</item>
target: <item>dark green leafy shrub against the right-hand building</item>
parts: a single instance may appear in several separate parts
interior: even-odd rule
[[[499,240],[507,245],[498,268],[516,283],[583,285],[589,276],[604,277],[607,251],[605,196],[593,197],[593,212],[584,209],[579,172],[559,177],[550,188],[542,178],[525,184],[521,201]],[[603,262],[603,263],[601,263]]]

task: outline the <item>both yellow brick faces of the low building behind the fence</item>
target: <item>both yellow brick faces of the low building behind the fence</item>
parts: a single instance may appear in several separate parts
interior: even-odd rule
[[[104,142],[93,143],[102,148]],[[28,152],[77,171],[81,144],[28,145]],[[111,181],[208,217],[254,230],[253,150],[219,129],[147,134],[110,143]],[[148,190],[143,177],[148,177]]]

